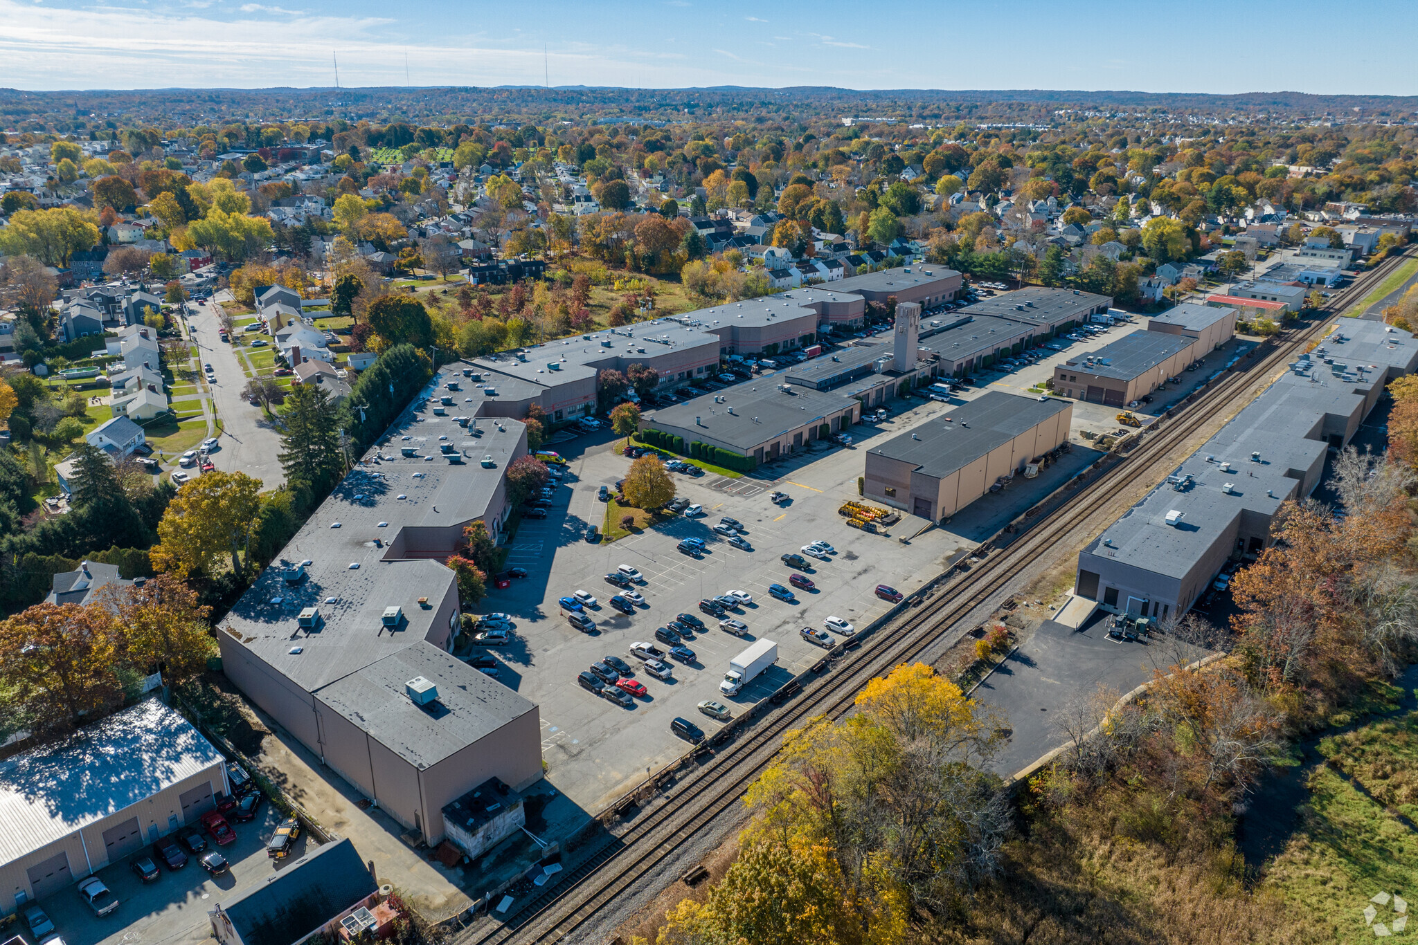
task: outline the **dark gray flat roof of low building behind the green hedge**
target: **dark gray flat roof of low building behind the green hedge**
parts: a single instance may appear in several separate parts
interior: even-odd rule
[[[705,436],[747,455],[760,443],[856,405],[851,397],[811,387],[794,387],[793,394],[784,394],[774,380],[760,377],[743,381],[718,395],[706,394],[651,411],[641,426],[658,428],[659,424],[666,424],[686,431],[702,429]],[[715,397],[723,398],[723,402],[716,404]],[[729,412],[730,407],[733,414]],[[699,425],[695,425],[696,417]]]

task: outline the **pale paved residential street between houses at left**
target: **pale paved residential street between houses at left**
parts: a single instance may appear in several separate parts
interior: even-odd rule
[[[277,489],[285,485],[285,472],[278,459],[281,436],[265,411],[241,398],[247,375],[235,350],[218,336],[218,306],[201,302],[194,307],[197,315],[187,316],[187,326],[197,346],[199,360],[210,363],[217,378],[211,385],[211,398],[221,419],[221,449],[213,453],[213,462],[223,472],[244,472],[259,479],[267,489]]]

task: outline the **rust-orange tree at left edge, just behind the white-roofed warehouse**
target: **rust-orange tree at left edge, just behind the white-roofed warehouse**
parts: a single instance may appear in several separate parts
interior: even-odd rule
[[[122,698],[119,633],[101,606],[35,604],[0,623],[0,687],[35,731],[72,728]]]

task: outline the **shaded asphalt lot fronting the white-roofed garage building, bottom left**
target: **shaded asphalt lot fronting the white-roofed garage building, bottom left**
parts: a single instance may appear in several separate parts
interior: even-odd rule
[[[48,912],[67,945],[210,941],[207,911],[213,905],[265,883],[272,873],[305,856],[308,840],[302,833],[289,857],[279,861],[267,857],[267,840],[281,819],[279,810],[264,803],[255,820],[233,825],[237,833],[233,843],[217,847],[210,836],[206,837],[207,849],[220,850],[231,864],[221,876],[207,876],[196,856],[189,856],[187,864],[179,870],[169,870],[155,857],[153,863],[162,873],[152,883],[143,883],[129,863],[138,856],[150,856],[152,844],[147,844],[98,871],[104,885],[119,901],[113,912],[95,917],[77,885],[40,900],[40,907]]]

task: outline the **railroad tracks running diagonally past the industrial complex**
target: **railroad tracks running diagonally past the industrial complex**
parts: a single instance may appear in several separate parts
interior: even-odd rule
[[[934,587],[915,599],[902,618],[878,629],[820,663],[817,679],[807,681],[784,704],[769,708],[756,725],[722,745],[698,771],[682,776],[665,793],[664,803],[644,813],[624,834],[608,837],[593,856],[562,883],[527,901],[505,924],[471,928],[457,936],[458,945],[502,945],[503,942],[580,941],[577,931],[605,910],[635,881],[655,870],[681,843],[733,806],[747,786],[777,754],[781,735],[815,715],[831,718],[845,713],[856,693],[873,677],[910,662],[940,635],[981,604],[1005,591],[1011,581],[1039,554],[1058,545],[1115,497],[1112,486],[1146,477],[1157,466],[1166,473],[1176,458],[1171,452],[1204,428],[1224,408],[1249,400],[1256,378],[1268,378],[1302,346],[1322,337],[1330,319],[1356,298],[1395,269],[1408,254],[1394,256],[1336,293],[1326,317],[1265,343],[1244,370],[1227,373],[1195,401],[1170,419],[1143,434],[1116,465],[1052,511],[1041,514],[1007,547],[988,554],[968,571]],[[1161,476],[1157,475],[1160,480]],[[760,703],[760,706],[764,706]],[[760,710],[761,711],[761,710]]]

